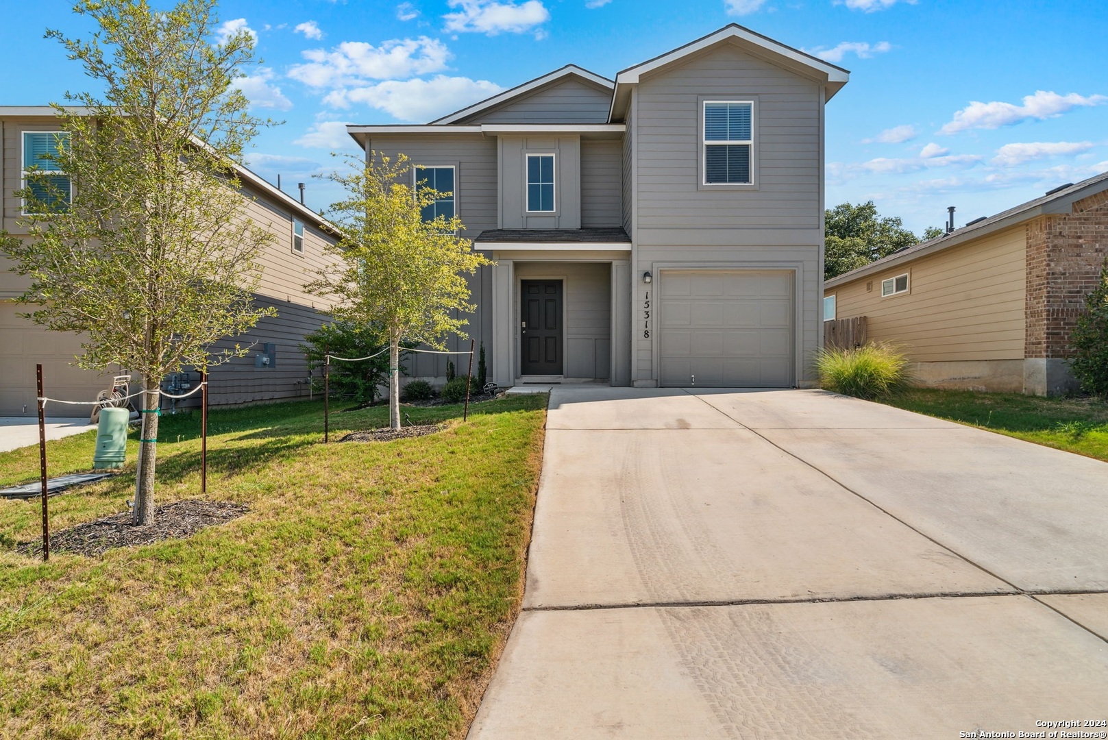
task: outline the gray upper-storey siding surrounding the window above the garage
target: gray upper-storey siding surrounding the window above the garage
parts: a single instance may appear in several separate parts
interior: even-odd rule
[[[704,97],[753,100],[756,187],[699,187]],[[722,44],[643,80],[639,228],[820,227],[820,88]]]

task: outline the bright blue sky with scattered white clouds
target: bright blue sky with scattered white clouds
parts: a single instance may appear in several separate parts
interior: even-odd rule
[[[41,37],[88,22],[68,1],[11,4],[0,104],[84,88]],[[337,194],[308,177],[357,151],[346,122],[425,122],[570,62],[614,78],[732,21],[851,70],[827,110],[829,206],[873,199],[921,233],[948,205],[961,225],[1108,171],[1102,1],[223,0],[219,18],[257,34],[244,92],[285,121],[252,168],[307,181],[316,208]]]

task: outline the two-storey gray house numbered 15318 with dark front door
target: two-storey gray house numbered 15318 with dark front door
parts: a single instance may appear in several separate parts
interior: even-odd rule
[[[731,24],[615,82],[567,65],[425,125],[349,132],[451,192],[437,209],[496,260],[472,281],[470,335],[501,386],[809,387],[823,105],[848,79]]]

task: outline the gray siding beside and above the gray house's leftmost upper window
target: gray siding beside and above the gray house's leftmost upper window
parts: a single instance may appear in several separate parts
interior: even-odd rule
[[[407,154],[413,165],[455,165],[454,201],[465,225],[465,237],[473,239],[484,229],[496,228],[495,136],[377,134],[367,142],[366,151],[390,157]]]

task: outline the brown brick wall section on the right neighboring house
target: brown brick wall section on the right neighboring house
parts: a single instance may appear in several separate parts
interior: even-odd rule
[[[1069,214],[1027,225],[1025,357],[1065,358],[1085,296],[1108,257],[1108,191],[1074,203]]]

